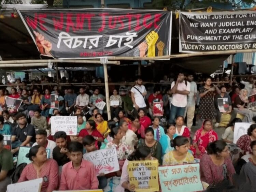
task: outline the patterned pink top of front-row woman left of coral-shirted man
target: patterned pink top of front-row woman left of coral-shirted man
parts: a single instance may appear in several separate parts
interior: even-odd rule
[[[52,192],[58,187],[59,167],[55,160],[47,159],[39,176],[34,169],[33,163],[29,163],[22,171],[18,182],[43,178],[41,192]]]

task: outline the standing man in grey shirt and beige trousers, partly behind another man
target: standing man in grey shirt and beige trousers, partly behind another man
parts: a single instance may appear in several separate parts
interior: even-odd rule
[[[193,119],[195,116],[196,109],[196,98],[197,98],[197,84],[194,82],[194,77],[192,74],[187,76],[187,80],[190,83],[190,92],[187,95],[187,106],[184,113],[184,119],[187,116],[187,127],[189,131],[193,125]]]

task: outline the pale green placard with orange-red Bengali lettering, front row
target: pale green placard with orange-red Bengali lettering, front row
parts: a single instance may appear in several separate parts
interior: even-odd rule
[[[158,167],[162,191],[202,191],[199,163]]]

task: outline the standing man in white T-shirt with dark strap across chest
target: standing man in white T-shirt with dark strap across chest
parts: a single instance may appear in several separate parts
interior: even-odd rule
[[[145,102],[145,96],[147,95],[147,91],[144,85],[142,85],[141,76],[137,76],[135,80],[136,85],[131,88],[131,100],[133,102],[133,116],[138,116],[139,108],[142,108],[144,112],[147,111],[147,105]]]

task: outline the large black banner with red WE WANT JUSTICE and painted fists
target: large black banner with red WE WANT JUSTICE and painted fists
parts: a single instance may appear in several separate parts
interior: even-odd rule
[[[43,55],[54,58],[170,55],[168,11],[125,9],[20,11]]]

